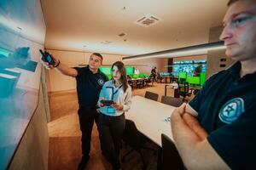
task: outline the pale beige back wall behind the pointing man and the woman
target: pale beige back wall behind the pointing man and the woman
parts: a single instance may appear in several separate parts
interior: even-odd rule
[[[70,67],[78,65],[87,65],[91,53],[82,53],[77,51],[61,51],[61,50],[48,50],[50,54],[53,54],[56,58],[61,60]],[[115,54],[102,54],[103,65],[112,65],[115,61],[122,60],[124,56]],[[148,67],[138,67],[140,72],[150,73],[152,67],[156,66],[158,71],[166,71],[165,65],[167,65],[167,59],[135,59],[124,61],[125,65],[148,65]],[[46,77],[48,78],[47,85],[49,92],[75,90],[76,82],[73,77],[67,77],[61,75],[60,72],[51,70],[46,71]]]

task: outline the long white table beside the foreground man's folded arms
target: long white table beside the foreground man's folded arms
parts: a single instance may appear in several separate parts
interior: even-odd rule
[[[161,147],[161,133],[172,138],[171,124],[165,119],[171,116],[176,107],[133,96],[131,109],[125,113],[125,118],[135,122],[137,129]]]

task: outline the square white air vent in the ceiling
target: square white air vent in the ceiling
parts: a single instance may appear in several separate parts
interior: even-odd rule
[[[139,26],[154,26],[157,24],[161,19],[154,16],[153,14],[145,14],[143,17],[139,18],[135,24]]]

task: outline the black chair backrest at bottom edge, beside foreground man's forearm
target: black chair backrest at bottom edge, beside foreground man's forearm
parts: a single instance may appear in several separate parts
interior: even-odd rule
[[[179,156],[175,144],[165,134],[161,134],[162,139],[162,169],[163,170],[183,170],[183,161]]]

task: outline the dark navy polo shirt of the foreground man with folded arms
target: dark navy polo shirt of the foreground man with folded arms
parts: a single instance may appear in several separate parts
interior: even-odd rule
[[[210,77],[189,102],[208,142],[232,169],[255,168],[256,72],[240,78],[241,63]]]

